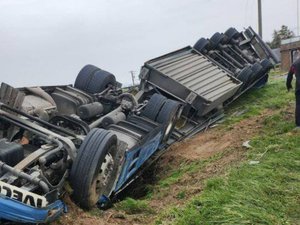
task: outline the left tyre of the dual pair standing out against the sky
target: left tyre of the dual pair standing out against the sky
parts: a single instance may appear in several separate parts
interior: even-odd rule
[[[93,65],[86,65],[84,66],[80,72],[78,73],[75,83],[74,83],[74,87],[80,90],[85,91],[88,82],[90,81],[91,77],[93,76],[93,74],[100,70],[98,67],[93,66]]]

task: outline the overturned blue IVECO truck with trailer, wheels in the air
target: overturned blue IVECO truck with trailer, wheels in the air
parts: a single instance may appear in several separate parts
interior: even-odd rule
[[[74,86],[2,83],[1,220],[55,220],[66,210],[66,182],[80,207],[107,206],[169,145],[220,119],[223,107],[250,88],[264,86],[277,62],[251,27],[229,28],[147,61],[136,95],[92,65]]]

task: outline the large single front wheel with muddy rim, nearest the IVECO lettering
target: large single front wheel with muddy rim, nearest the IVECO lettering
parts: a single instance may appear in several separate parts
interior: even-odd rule
[[[78,150],[70,174],[72,198],[85,209],[108,196],[117,175],[117,137],[107,130],[91,130]]]

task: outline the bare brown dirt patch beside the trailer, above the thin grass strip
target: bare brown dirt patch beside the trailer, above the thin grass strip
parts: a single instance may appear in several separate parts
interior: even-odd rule
[[[176,143],[162,157],[160,164],[167,161],[166,163],[176,166],[184,160],[204,160],[225,149],[239,148],[243,142],[258,134],[264,118],[273,113],[271,110],[265,110],[261,115],[242,120],[233,126],[220,125]]]

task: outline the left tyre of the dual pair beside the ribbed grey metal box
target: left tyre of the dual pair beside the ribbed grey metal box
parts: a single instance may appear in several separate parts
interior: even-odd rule
[[[155,121],[166,99],[167,99],[166,97],[160,94],[155,93],[154,95],[152,95],[142,113],[142,116],[145,116]]]

